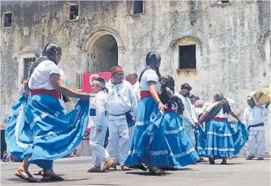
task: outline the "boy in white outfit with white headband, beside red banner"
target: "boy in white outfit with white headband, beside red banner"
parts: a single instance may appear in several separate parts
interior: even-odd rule
[[[90,102],[90,148],[92,150],[92,167],[88,172],[102,172],[107,170],[114,161],[110,159],[110,155],[103,148],[103,143],[108,130],[108,89],[103,78],[96,78],[92,82],[92,91],[96,93],[93,100]],[[101,164],[106,162],[103,170]]]

